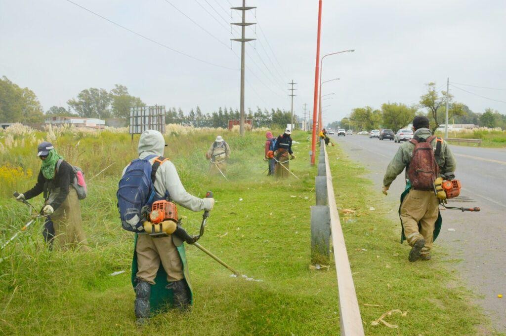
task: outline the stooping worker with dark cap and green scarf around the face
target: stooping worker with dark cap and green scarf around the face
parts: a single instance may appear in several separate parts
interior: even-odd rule
[[[50,142],[44,141],[38,145],[37,156],[42,162],[37,183],[19,194],[16,200],[22,202],[44,193],[46,201],[42,212],[50,218],[45,223],[43,234],[50,248],[56,241],[56,247],[60,249],[88,249],[86,234],[81,226],[79,199],[73,186],[74,169]]]

